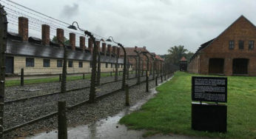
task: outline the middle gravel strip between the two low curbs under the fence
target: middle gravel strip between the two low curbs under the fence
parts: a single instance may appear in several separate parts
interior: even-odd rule
[[[145,77],[141,81],[146,80]],[[137,79],[130,79],[127,84],[133,85],[137,83]],[[103,95],[121,88],[121,81],[104,84],[98,87],[100,91],[96,92],[96,96]],[[73,92],[49,95],[41,98],[33,98],[27,101],[19,101],[4,106],[4,128],[16,126],[27,121],[31,121],[38,117],[57,111],[58,100],[67,101],[67,106],[73,106],[82,101],[89,99],[90,88],[81,89]]]

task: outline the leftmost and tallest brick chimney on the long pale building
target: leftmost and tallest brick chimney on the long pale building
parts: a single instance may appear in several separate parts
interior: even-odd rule
[[[18,35],[21,35],[22,41],[28,40],[28,18],[18,17]]]

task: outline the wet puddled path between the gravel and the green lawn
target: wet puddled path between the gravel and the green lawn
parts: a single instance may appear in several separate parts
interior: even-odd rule
[[[141,107],[146,101],[148,101],[150,98],[155,96],[157,92],[155,91],[155,88],[150,89],[150,94],[137,102],[134,106],[129,106],[123,111],[119,112],[117,115],[110,116],[105,119],[101,119],[100,121],[96,121],[87,125],[82,126],[76,126],[75,128],[69,128],[67,135],[69,139],[84,139],[84,138],[90,138],[90,139],[98,139],[98,138],[111,138],[111,139],[129,139],[129,138],[143,138],[142,135],[144,134],[144,131],[140,130],[128,130],[126,126],[118,124],[118,121],[124,117],[124,115],[127,115]],[[52,138],[58,138],[58,133],[56,130],[49,133],[41,133],[34,137],[30,137],[27,139],[52,139]],[[155,135],[149,138],[182,138],[186,139],[189,137],[185,137],[182,135]],[[191,137],[190,137],[191,138]]]

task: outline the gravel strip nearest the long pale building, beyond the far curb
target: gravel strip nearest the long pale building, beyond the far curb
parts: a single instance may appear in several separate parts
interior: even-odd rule
[[[130,74],[129,78],[134,78],[135,74]],[[118,75],[118,80],[121,80],[122,76]],[[110,81],[115,81],[115,76],[101,77],[101,84],[107,83]],[[90,87],[90,80],[75,80],[67,81],[67,90],[68,89],[77,89],[82,87]],[[5,101],[12,101],[19,98],[33,97],[37,95],[44,95],[53,92],[60,92],[61,82],[53,83],[44,83],[44,84],[27,84],[24,87],[7,87],[5,89]]]

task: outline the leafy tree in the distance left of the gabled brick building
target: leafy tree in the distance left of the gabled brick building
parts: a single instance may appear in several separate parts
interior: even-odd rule
[[[170,64],[174,64],[176,66],[179,65],[181,58],[184,56],[187,60],[189,60],[192,55],[194,55],[193,52],[189,52],[184,48],[184,46],[179,45],[169,48],[168,50],[169,54],[166,55],[166,62]]]

